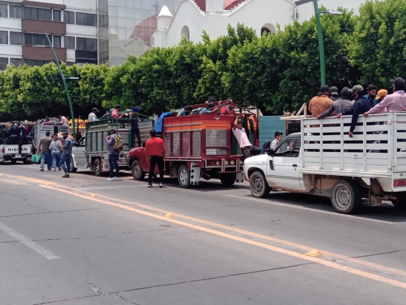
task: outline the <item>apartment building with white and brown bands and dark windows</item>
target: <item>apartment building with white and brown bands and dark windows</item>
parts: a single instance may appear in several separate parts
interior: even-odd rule
[[[0,0],[0,70],[7,65],[97,64],[97,0]]]

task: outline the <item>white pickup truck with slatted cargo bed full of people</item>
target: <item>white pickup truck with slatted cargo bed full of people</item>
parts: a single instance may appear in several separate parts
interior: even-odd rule
[[[330,196],[334,209],[355,213],[363,198],[406,207],[406,113],[359,117],[300,118],[301,133],[287,136],[268,155],[244,162],[254,197],[271,189]]]

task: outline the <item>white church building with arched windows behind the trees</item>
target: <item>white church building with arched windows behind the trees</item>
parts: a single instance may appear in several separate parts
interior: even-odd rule
[[[365,0],[319,0],[318,5],[329,11],[337,7],[358,12]],[[173,46],[182,37],[201,41],[202,31],[211,39],[227,34],[227,25],[238,23],[252,27],[257,35],[277,31],[294,21],[303,22],[314,15],[313,0],[181,0],[175,12],[162,7],[153,34],[155,46]]]

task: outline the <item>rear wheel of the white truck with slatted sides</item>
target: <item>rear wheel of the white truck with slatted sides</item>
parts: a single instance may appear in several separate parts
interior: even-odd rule
[[[339,180],[335,182],[331,192],[331,203],[341,214],[353,214],[361,207],[362,195],[353,181]]]

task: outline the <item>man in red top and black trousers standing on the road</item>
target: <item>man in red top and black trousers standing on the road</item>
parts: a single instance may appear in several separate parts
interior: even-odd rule
[[[161,138],[156,137],[156,131],[151,129],[150,138],[145,143],[145,150],[149,160],[148,187],[152,188],[152,176],[154,175],[155,165],[159,169],[159,187],[162,188],[163,179],[163,156],[165,155],[165,143]]]

